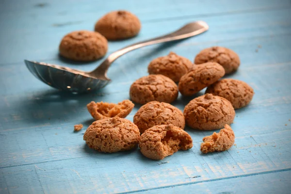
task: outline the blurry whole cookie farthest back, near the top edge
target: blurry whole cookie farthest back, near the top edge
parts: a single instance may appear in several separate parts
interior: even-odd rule
[[[137,16],[128,11],[113,11],[102,16],[95,24],[95,31],[108,40],[119,40],[133,37],[141,29]]]

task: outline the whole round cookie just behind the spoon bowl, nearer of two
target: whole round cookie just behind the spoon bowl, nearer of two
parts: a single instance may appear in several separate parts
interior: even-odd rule
[[[94,61],[103,57],[108,49],[104,36],[98,32],[75,31],[62,39],[60,55],[76,61]]]

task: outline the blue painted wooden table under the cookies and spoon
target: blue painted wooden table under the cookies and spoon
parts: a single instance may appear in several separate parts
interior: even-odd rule
[[[142,22],[137,37],[109,42],[109,53],[131,43],[204,20],[210,30],[187,40],[132,51],[109,69],[113,82],[96,94],[70,95],[35,79],[24,59],[94,69],[100,61],[60,60],[58,44],[74,30],[93,30],[105,13],[126,9]],[[113,154],[82,140],[93,122],[91,100],[129,98],[130,84],[147,75],[148,63],[174,51],[193,61],[210,46],[236,51],[239,70],[255,96],[236,111],[235,145],[202,154],[213,131],[186,128],[194,146],[162,161],[135,149]],[[204,91],[199,93],[203,94]],[[173,104],[183,110],[191,98]],[[136,106],[127,117],[132,121]],[[290,0],[1,0],[0,1],[0,193],[290,193],[291,192]],[[74,133],[75,124],[84,129]]]

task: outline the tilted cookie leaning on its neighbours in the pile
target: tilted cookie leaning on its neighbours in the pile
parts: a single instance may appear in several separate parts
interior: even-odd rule
[[[179,91],[183,96],[192,96],[224,75],[225,70],[218,63],[194,65],[191,71],[181,77]]]

